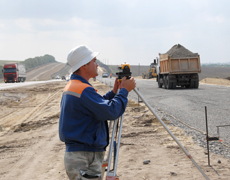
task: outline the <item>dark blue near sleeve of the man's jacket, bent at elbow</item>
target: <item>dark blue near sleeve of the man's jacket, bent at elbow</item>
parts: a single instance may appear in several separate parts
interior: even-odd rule
[[[88,87],[81,94],[82,111],[95,120],[115,120],[124,112],[128,91],[122,88],[112,99],[105,99],[95,89]]]

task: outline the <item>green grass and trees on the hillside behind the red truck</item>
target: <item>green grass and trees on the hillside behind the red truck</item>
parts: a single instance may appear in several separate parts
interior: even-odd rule
[[[24,64],[26,67],[26,71],[31,70],[35,67],[41,66],[41,65],[45,65],[48,63],[52,63],[52,62],[57,62],[55,60],[55,58],[51,55],[44,55],[44,56],[38,56],[35,58],[28,58],[24,61],[6,61],[6,60],[1,60],[0,61],[0,78],[3,78],[3,73],[2,73],[2,69],[3,69],[3,65],[5,63],[11,63],[11,62],[20,62],[21,64]]]

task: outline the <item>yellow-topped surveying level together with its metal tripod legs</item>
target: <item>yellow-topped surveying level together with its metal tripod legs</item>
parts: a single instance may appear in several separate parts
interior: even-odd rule
[[[126,79],[130,79],[132,73],[130,71],[130,65],[129,64],[127,64],[127,63],[121,64],[118,67],[118,69],[119,69],[119,72],[117,72],[116,75],[117,75],[117,78],[119,81],[121,81],[121,79],[123,77],[126,77]],[[137,88],[134,88],[133,90],[138,95],[138,97],[141,98],[141,100],[145,103],[145,105],[149,108],[149,110],[155,115],[157,120],[166,129],[166,131],[170,134],[170,136],[174,139],[174,141],[176,141],[176,143],[180,146],[180,148],[183,150],[183,152],[186,154],[186,156],[192,161],[192,163],[196,166],[196,168],[201,172],[201,174],[204,176],[204,178],[209,180],[207,175],[198,166],[198,164],[194,161],[192,156],[183,147],[183,145],[178,141],[178,139],[174,136],[174,134],[169,130],[169,128],[166,126],[166,124],[162,121],[162,119],[156,114],[156,112],[153,110],[153,108],[150,106],[150,104],[144,99],[144,97],[137,90]],[[111,128],[112,128],[112,136],[110,139],[110,146],[109,146],[107,158],[104,159],[104,162],[102,165],[102,176],[101,176],[103,178],[105,171],[107,171],[106,180],[119,180],[119,177],[116,175],[116,171],[117,171],[118,155],[119,155],[119,148],[120,148],[120,142],[121,142],[123,117],[124,117],[124,114],[122,114],[120,118],[116,119],[115,121],[110,121],[110,123],[109,123],[109,130],[111,130]],[[112,123],[113,123],[113,127],[112,127]],[[116,141],[116,138],[117,138],[117,141]],[[113,169],[111,169],[112,161],[113,161]],[[106,169],[106,167],[107,167],[107,169]]]

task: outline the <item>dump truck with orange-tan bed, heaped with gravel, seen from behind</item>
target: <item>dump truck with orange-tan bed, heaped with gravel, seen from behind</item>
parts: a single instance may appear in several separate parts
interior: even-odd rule
[[[180,44],[174,45],[164,54],[159,53],[156,78],[159,88],[198,88],[198,73],[201,73],[198,53],[193,53]]]

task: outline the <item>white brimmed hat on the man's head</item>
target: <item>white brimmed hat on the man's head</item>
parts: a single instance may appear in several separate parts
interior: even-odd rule
[[[90,62],[98,54],[99,52],[93,52],[91,49],[83,45],[73,48],[67,56],[67,61],[71,66],[71,71],[74,72],[78,70],[81,66]]]

